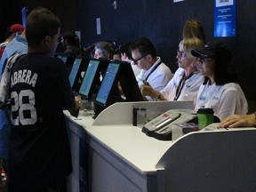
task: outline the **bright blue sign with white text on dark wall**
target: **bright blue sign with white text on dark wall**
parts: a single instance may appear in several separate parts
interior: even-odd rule
[[[215,0],[214,36],[236,36],[236,0]]]

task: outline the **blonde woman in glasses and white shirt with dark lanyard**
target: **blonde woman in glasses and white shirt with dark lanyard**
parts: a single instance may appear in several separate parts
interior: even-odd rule
[[[179,44],[176,57],[179,68],[172,80],[160,92],[150,85],[144,86],[142,94],[154,97],[156,100],[194,100],[196,103],[196,94],[199,86],[204,82],[204,76],[198,74],[196,58],[190,51],[203,46],[204,41],[199,38],[183,39]]]

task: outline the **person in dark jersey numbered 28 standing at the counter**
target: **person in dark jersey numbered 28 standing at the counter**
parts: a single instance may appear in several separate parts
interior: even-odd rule
[[[60,20],[37,8],[28,15],[28,54],[14,63],[11,76],[9,192],[67,191],[72,172],[63,108],[75,106],[62,60],[52,57]]]

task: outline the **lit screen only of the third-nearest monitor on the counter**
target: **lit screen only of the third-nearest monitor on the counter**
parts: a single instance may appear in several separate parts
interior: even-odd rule
[[[72,89],[75,89],[77,81],[79,79],[79,76],[81,76],[82,65],[83,65],[83,59],[82,58],[76,58],[74,60],[72,69],[71,69],[70,74],[68,76],[69,83],[70,83]]]

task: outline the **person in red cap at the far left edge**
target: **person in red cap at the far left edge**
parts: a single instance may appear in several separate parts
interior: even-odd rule
[[[24,29],[25,28],[22,25],[20,25],[20,24],[13,24],[9,28],[9,31],[5,35],[6,36],[5,41],[2,44],[0,44],[0,60],[2,58],[4,49],[7,46],[7,44],[12,41],[12,39],[14,38],[16,33],[22,32]]]

